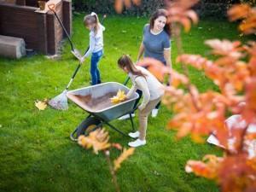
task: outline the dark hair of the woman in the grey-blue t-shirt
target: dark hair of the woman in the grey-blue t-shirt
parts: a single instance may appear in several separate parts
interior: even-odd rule
[[[172,31],[171,31],[171,23],[168,22],[168,15],[166,9],[157,9],[153,15],[151,15],[150,20],[149,20],[149,28],[153,29],[154,28],[154,20],[159,18],[160,16],[166,17],[166,26],[164,27],[165,32],[171,37]]]

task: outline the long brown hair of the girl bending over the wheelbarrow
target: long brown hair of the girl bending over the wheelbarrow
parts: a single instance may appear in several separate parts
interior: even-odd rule
[[[122,55],[118,60],[118,65],[122,69],[126,68],[128,72],[132,73],[133,75],[143,76],[143,78],[146,78],[146,74],[143,74],[134,66],[129,55]]]

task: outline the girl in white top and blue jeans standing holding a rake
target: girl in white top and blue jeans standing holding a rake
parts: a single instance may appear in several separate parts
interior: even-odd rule
[[[90,15],[84,16],[84,26],[90,30],[90,48],[82,56],[83,62],[86,57],[90,59],[90,77],[91,84],[101,84],[101,74],[98,69],[98,63],[103,55],[103,31],[105,27],[99,22],[96,13],[92,12]]]

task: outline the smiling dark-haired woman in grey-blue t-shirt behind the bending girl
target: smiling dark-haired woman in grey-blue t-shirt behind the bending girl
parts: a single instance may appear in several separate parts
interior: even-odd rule
[[[141,57],[151,57],[172,67],[171,61],[171,25],[167,23],[166,9],[158,9],[143,28],[143,42],[139,48],[137,61]],[[160,103],[152,111],[156,117]]]

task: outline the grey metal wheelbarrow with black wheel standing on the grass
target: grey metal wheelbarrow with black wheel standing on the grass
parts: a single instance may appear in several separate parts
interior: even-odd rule
[[[116,82],[108,82],[104,84],[96,84],[84,87],[78,90],[70,90],[67,92],[67,98],[76,103],[79,108],[84,109],[89,115],[80,123],[80,125],[70,134],[73,141],[77,141],[80,135],[88,135],[90,131],[95,131],[102,126],[108,125],[114,131],[129,137],[123,131],[110,124],[113,119],[130,114],[132,131],[134,131],[134,123],[131,113],[137,109],[134,108],[138,94],[134,93],[129,100],[113,104],[110,98],[115,96],[118,90],[124,90],[125,94],[129,91],[124,84]],[[76,135],[76,136],[75,136]]]

